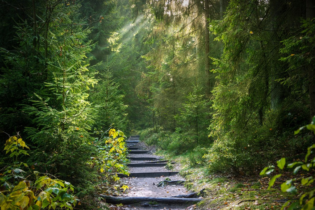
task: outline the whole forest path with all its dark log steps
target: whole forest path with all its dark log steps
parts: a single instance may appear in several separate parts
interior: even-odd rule
[[[201,201],[196,193],[184,187],[185,179],[177,171],[169,170],[168,165],[177,168],[176,163],[168,162],[163,156],[154,155],[155,149],[139,141],[139,136],[131,136],[127,140],[129,147],[129,177],[121,174],[121,183],[129,187],[125,197],[105,197],[106,202],[125,204],[121,210],[192,210],[198,209],[194,203]],[[182,181],[181,183],[158,184],[165,180]],[[173,196],[173,197],[172,197]],[[174,197],[174,196],[177,196]],[[187,196],[185,198],[184,196]]]

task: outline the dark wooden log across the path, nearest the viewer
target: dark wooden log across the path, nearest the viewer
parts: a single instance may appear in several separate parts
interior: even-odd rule
[[[198,203],[203,199],[200,198],[173,198],[173,197],[113,197],[100,195],[104,198],[106,203],[112,204],[133,204],[141,202],[157,202],[165,204],[186,204],[186,203]]]

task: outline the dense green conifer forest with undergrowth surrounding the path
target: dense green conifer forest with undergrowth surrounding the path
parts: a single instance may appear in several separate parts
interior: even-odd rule
[[[200,153],[210,172],[298,157],[314,143],[312,133],[293,134],[315,116],[314,4],[1,1],[2,145],[18,133],[28,166],[77,193],[104,167],[90,160],[111,128]],[[11,157],[2,151],[0,168],[16,164]],[[125,170],[126,159],[115,160],[104,180]]]

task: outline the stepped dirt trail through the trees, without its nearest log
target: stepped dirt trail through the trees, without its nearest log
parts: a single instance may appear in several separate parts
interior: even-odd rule
[[[192,192],[189,192],[183,184],[172,183],[165,184],[164,186],[157,186],[160,181],[169,178],[171,180],[184,180],[176,171],[169,170],[166,167],[166,161],[163,161],[162,156],[154,155],[155,149],[147,147],[144,143],[138,142],[139,136],[131,136],[128,139],[127,144],[129,145],[130,152],[130,166],[129,166],[129,177],[123,177],[122,183],[129,186],[128,193],[125,194],[125,197],[133,198],[133,197],[153,197],[154,198],[162,198],[178,195],[188,195]],[[132,142],[129,143],[129,142]],[[139,147],[132,149],[131,147]],[[143,154],[134,154],[138,153],[140,150],[146,150]],[[138,152],[137,152],[138,151]],[[153,160],[138,160],[139,158],[154,158]],[[133,160],[136,158],[137,160]],[[142,164],[146,164],[145,167]],[[134,165],[137,164],[137,165]],[[139,165],[140,164],[140,165]],[[169,163],[172,164],[172,163]],[[173,163],[174,164],[174,163]],[[165,165],[165,166],[162,166]],[[174,164],[175,165],[175,164]],[[136,166],[136,167],[134,167]],[[141,167],[138,167],[141,166]],[[176,168],[176,167],[174,167]],[[153,173],[154,172],[154,173]],[[172,172],[175,175],[168,176],[167,173]],[[131,177],[136,176],[136,177]],[[193,198],[198,198],[198,196],[194,196]],[[201,198],[201,197],[199,197]],[[138,199],[138,198],[135,198]],[[151,199],[151,198],[150,198]],[[173,198],[171,198],[173,199]],[[181,200],[189,200],[191,198],[179,198]],[[108,201],[108,199],[106,199]],[[185,201],[186,201],[185,200]],[[200,199],[199,199],[200,200]],[[119,203],[119,202],[118,202]],[[137,201],[134,204],[125,204],[123,207],[119,209],[123,210],[149,210],[149,209],[169,209],[169,210],[192,210],[198,209],[194,203],[186,203],[186,204],[165,204],[156,201]],[[174,202],[175,203],[175,202]],[[196,203],[196,202],[195,202]]]

